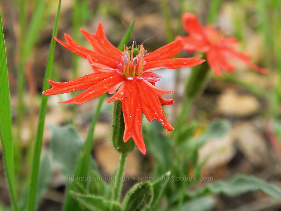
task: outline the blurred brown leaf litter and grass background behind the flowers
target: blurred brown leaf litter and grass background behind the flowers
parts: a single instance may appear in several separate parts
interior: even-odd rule
[[[42,2],[42,5],[39,5],[41,8],[36,10],[38,14],[34,16],[35,8],[39,7],[38,2]],[[176,35],[186,35],[180,20],[183,12],[195,13],[205,25],[211,2],[211,0],[62,0],[57,37],[64,41],[63,34],[68,33],[77,43],[91,48],[79,28],[94,33],[101,21],[105,27],[106,37],[117,46],[127,26],[135,20],[132,35],[137,44],[148,39],[144,46],[148,52],[151,52],[172,41]],[[270,72],[266,75],[258,74],[242,63],[235,63],[236,70],[231,76],[211,75],[203,94],[193,104],[189,119],[199,123],[197,134],[202,133],[215,118],[227,119],[232,126],[219,142],[210,140],[200,148],[199,159],[203,160],[207,155],[212,155],[202,169],[202,176],[212,176],[217,180],[229,178],[235,173],[252,174],[281,188],[281,1],[221,0],[218,2],[215,27],[219,28],[225,36],[236,36],[242,42],[242,48],[252,53],[253,62],[269,68]],[[57,0],[2,0],[0,2],[11,90],[13,135],[14,140],[21,146],[18,156],[24,158],[15,166],[19,178],[26,177],[30,170],[57,3]],[[133,37],[129,45],[132,41]],[[181,57],[190,56],[193,55],[181,53]],[[91,71],[85,59],[74,56],[70,51],[56,44],[52,72],[54,81],[69,81]],[[190,69],[161,69],[154,72],[163,77],[156,83],[157,87],[176,90],[169,94],[169,97],[174,99],[174,105],[164,108],[168,120],[173,123],[180,108]],[[62,126],[71,123],[75,125],[81,137],[86,138],[98,99],[79,106],[56,103],[67,100],[71,96],[71,93],[67,93],[48,98],[43,151],[49,148],[51,138],[47,128],[49,124]],[[95,158],[101,175],[112,174],[118,165],[119,155],[111,143],[112,105],[113,103],[104,102],[94,133],[92,157]],[[147,122],[143,119],[144,127]],[[0,146],[0,157],[1,154]],[[135,150],[129,154],[126,175],[132,177],[149,175],[155,162],[151,150],[148,150],[146,155]],[[136,182],[127,181],[124,183],[124,189],[128,189]],[[197,187],[202,183],[205,182],[198,183]],[[59,169],[55,168],[39,210],[60,210],[65,184]],[[1,159],[0,202],[8,205],[8,196]],[[280,208],[280,200],[264,197],[261,193],[245,193],[234,198],[223,194],[217,195],[213,210],[278,210]]]

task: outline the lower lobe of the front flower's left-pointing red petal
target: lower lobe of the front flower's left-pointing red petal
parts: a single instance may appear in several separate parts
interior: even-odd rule
[[[101,73],[107,74],[107,73]],[[98,83],[87,88],[84,92],[77,95],[70,100],[60,102],[61,104],[75,103],[82,104],[86,103],[104,93],[106,93],[111,87],[115,86],[117,83],[124,81],[124,77],[115,72],[115,74],[108,75],[107,78],[100,80]]]

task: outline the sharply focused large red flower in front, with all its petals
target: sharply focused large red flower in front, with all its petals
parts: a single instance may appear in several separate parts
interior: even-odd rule
[[[134,43],[131,48],[134,51],[131,52],[131,49],[125,49],[124,46],[124,51],[121,52],[106,39],[102,23],[99,23],[94,34],[83,29],[81,33],[95,51],[80,46],[67,34],[65,34],[66,43],[55,39],[71,52],[87,58],[94,73],[65,83],[48,80],[52,88],[42,93],[51,95],[86,89],[76,97],[60,102],[82,104],[106,92],[113,94],[119,88],[107,102],[116,100],[122,102],[125,122],[124,142],[132,137],[140,151],[145,154],[141,130],[142,113],[150,122],[158,120],[165,129],[174,129],[162,109],[162,105],[171,105],[173,100],[161,98],[161,94],[173,91],[156,88],[155,82],[161,77],[148,71],[159,68],[192,67],[205,60],[199,60],[201,56],[170,59],[182,50],[181,40],[174,41],[151,53],[146,53],[142,45],[134,49]]]

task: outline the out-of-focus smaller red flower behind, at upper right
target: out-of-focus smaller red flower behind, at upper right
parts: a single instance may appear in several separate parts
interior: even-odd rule
[[[260,68],[251,63],[251,57],[245,52],[239,52],[236,46],[239,42],[235,37],[225,38],[213,26],[203,27],[198,18],[192,13],[182,15],[182,26],[189,34],[187,37],[176,37],[176,40],[182,39],[185,46],[184,50],[188,53],[205,52],[208,64],[217,75],[222,75],[220,68],[227,71],[234,71],[234,64],[229,59],[238,59],[246,63],[250,68],[260,72],[267,73],[268,70]]]

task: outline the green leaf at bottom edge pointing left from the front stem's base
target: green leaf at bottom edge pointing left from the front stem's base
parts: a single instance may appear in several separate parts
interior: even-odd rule
[[[121,211],[121,206],[118,202],[110,202],[95,195],[86,195],[70,191],[71,197],[75,198],[78,202],[86,206],[89,210],[93,211]],[[72,209],[71,209],[72,210]]]

